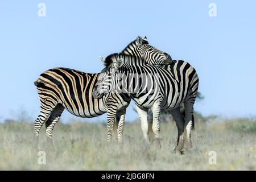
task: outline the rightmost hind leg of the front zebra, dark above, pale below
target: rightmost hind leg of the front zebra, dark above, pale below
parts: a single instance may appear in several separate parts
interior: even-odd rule
[[[185,130],[187,131],[187,146],[192,147],[191,130],[194,128],[193,105],[195,98],[191,98],[185,102]]]

